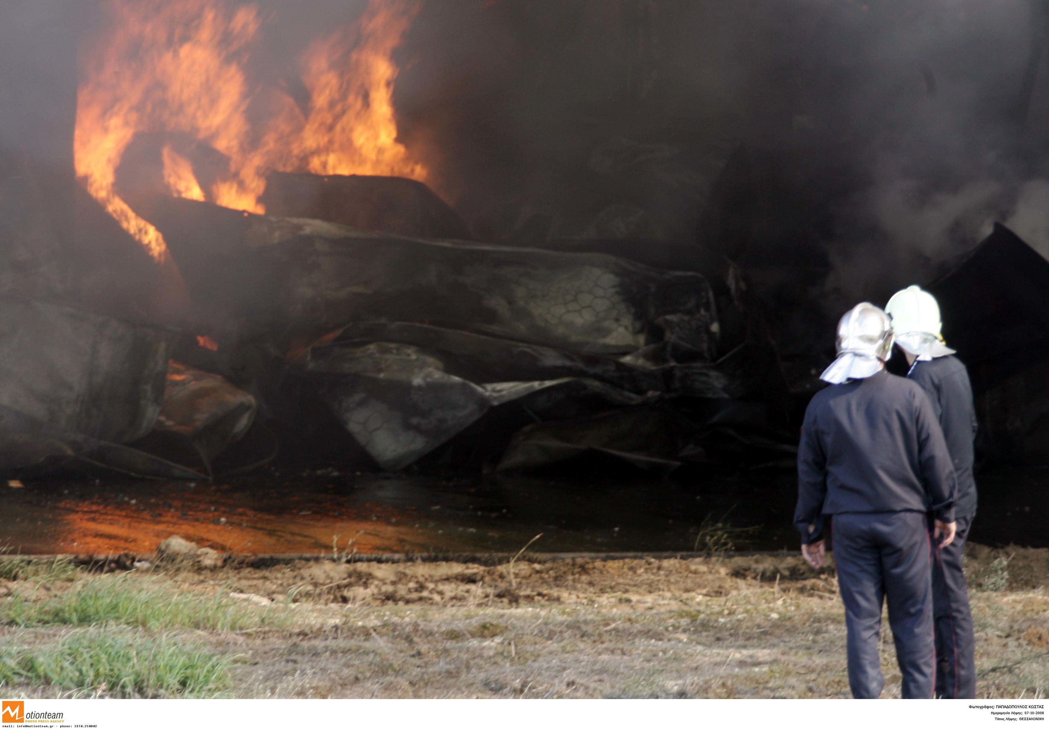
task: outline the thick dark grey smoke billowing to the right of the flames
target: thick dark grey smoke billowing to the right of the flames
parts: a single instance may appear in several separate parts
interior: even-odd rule
[[[826,251],[820,295],[840,307],[928,280],[996,219],[1049,253],[1044,61],[1019,111],[1040,7],[429,0],[400,108],[461,209],[504,235],[578,205],[576,173],[609,138],[670,145],[693,169],[715,142],[744,145],[751,251]]]

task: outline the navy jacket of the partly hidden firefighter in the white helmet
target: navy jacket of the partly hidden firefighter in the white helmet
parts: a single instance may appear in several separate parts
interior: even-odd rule
[[[958,516],[977,513],[977,483],[972,477],[972,441],[977,434],[977,410],[972,404],[969,372],[956,357],[938,357],[930,362],[915,362],[907,379],[925,390],[933,412],[940,421],[947,451],[958,475]]]

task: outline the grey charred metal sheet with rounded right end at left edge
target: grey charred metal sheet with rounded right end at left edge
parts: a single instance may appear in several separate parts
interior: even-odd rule
[[[152,429],[170,333],[70,306],[0,300],[0,405],[111,443]]]

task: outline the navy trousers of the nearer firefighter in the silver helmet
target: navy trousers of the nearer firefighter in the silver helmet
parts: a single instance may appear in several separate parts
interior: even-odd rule
[[[932,699],[936,680],[932,549],[925,514],[835,514],[834,563],[849,631],[849,686],[877,699],[885,685],[878,642],[881,605],[903,676],[904,699]]]

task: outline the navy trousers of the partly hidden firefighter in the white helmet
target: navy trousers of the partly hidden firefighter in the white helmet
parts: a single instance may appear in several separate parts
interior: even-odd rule
[[[962,552],[971,524],[972,517],[959,517],[955,541],[937,550],[933,560],[938,699],[976,699],[977,695],[976,641],[962,571]]]

